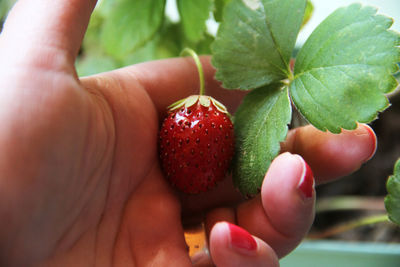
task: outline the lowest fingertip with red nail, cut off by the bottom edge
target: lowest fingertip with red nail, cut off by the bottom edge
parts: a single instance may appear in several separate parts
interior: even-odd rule
[[[278,257],[270,246],[227,222],[217,223],[213,227],[210,253],[218,267],[279,266]]]

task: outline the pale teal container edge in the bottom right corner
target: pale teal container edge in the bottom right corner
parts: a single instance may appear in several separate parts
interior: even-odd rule
[[[304,241],[281,267],[400,267],[400,243]]]

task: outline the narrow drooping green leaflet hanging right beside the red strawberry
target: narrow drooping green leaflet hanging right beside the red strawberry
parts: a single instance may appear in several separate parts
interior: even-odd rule
[[[235,114],[235,185],[245,195],[261,188],[271,161],[280,151],[291,119],[288,88],[271,84],[250,92]]]

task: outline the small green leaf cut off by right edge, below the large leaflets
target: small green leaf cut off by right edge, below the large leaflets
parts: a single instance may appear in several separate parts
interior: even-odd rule
[[[386,183],[388,195],[385,197],[385,208],[389,219],[400,225],[400,159],[397,160],[394,173]]]

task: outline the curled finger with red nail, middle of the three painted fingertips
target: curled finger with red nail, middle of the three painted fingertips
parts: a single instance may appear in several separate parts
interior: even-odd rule
[[[312,171],[300,156],[283,153],[271,163],[261,194],[238,206],[237,223],[282,257],[308,232],[314,202]]]

